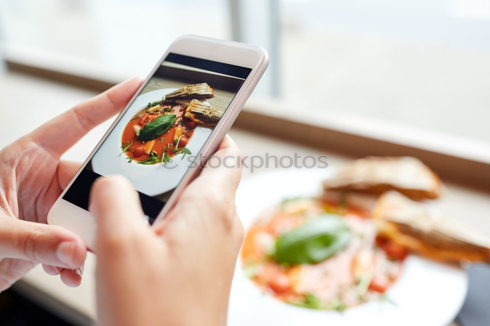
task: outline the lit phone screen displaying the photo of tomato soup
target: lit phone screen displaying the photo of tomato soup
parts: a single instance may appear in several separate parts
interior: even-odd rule
[[[169,53],[63,199],[88,210],[90,188],[122,174],[152,223],[251,69]]]

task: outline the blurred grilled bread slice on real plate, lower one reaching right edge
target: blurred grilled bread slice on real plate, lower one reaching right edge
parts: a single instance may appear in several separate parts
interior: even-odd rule
[[[378,234],[420,256],[447,262],[490,263],[490,238],[396,191],[372,211]]]

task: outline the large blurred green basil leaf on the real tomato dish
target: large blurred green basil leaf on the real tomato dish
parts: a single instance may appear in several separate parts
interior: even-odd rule
[[[315,264],[347,246],[351,232],[342,217],[324,214],[283,233],[276,241],[275,261]]]

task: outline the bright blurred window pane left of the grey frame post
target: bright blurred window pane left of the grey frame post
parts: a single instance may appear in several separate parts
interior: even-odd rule
[[[226,0],[0,0],[5,42],[124,76],[147,74],[182,34],[230,38]]]

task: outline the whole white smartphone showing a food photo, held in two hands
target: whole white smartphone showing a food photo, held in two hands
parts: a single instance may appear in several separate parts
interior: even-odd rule
[[[149,223],[163,218],[214,153],[268,63],[261,47],[177,39],[55,202],[48,223],[80,235],[95,251],[90,188],[111,174],[131,181]]]

